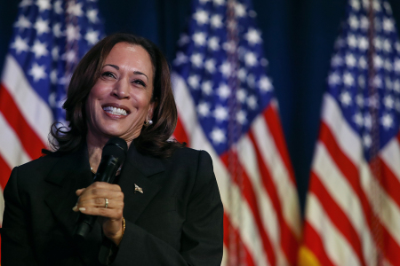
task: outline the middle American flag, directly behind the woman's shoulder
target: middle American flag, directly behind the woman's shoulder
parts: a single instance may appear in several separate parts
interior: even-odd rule
[[[248,0],[195,0],[172,66],[174,137],[212,155],[224,204],[222,265],[294,265],[296,182],[256,13]]]

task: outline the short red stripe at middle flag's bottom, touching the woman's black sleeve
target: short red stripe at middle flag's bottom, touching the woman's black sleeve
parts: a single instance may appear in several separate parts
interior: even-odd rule
[[[233,239],[230,239],[231,237]],[[226,213],[224,213],[224,243],[225,246],[228,246],[228,265],[255,266],[249,249],[244,245],[239,232],[230,223]]]

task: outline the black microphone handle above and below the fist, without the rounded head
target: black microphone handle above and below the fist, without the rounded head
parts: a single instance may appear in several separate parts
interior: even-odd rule
[[[113,155],[101,160],[96,175],[93,178],[94,182],[107,182],[113,184],[121,162]],[[80,214],[76,222],[74,237],[76,239],[86,239],[90,231],[92,231],[94,223],[96,223],[97,216]]]

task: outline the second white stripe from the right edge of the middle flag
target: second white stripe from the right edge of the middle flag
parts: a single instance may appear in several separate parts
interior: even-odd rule
[[[262,176],[260,175],[256,153],[249,137],[241,138],[237,145],[237,155],[241,164],[244,166],[247,176],[249,176],[252,183],[252,189],[256,194],[255,198],[257,199],[264,229],[266,230],[268,239],[271,240],[271,245],[276,253],[276,265],[289,265],[283,249],[280,246],[280,225],[278,224],[276,210],[272,205],[270,195],[268,195],[268,192],[266,192],[264,184],[262,183]]]

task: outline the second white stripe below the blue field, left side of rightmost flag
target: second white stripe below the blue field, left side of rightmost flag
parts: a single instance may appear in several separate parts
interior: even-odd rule
[[[363,247],[364,257],[369,256],[374,251],[374,246],[371,231],[369,231],[368,225],[365,223],[365,215],[360,199],[356,196],[356,192],[353,191],[351,185],[348,184],[346,177],[336,168],[324,144],[319,141],[316,144],[312,169],[356,230]],[[370,261],[365,260],[367,265],[372,265]]]

